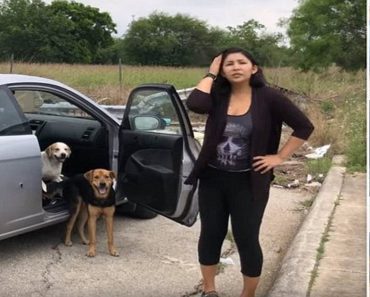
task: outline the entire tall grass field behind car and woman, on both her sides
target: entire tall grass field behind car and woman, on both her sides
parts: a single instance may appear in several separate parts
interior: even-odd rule
[[[0,63],[0,72],[10,65]],[[105,104],[124,104],[141,83],[169,83],[177,89],[192,87],[205,68],[123,66],[122,85],[117,65],[13,65],[13,73],[59,80]],[[343,72],[333,67],[323,73],[292,68],[264,69],[269,82],[304,94],[306,112],[314,122],[312,146],[331,144],[330,154],[345,154],[350,170],[366,169],[366,73]],[[303,99],[302,99],[303,100]]]

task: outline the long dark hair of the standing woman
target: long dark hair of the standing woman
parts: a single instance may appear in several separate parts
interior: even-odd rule
[[[220,71],[219,71],[219,74],[217,75],[217,77],[216,77],[216,79],[213,83],[213,86],[212,86],[212,95],[215,96],[216,98],[222,96],[225,99],[225,96],[227,96],[227,97],[230,96],[231,84],[226,78],[224,78],[222,75],[220,75],[220,73],[221,73],[221,68],[222,68],[222,65],[223,65],[226,57],[228,55],[234,54],[234,53],[243,54],[246,58],[248,58],[248,60],[250,60],[252,62],[253,65],[258,66],[257,72],[252,74],[252,76],[249,80],[250,86],[254,87],[254,88],[261,88],[261,87],[264,87],[266,85],[266,79],[265,79],[265,76],[263,75],[262,68],[259,67],[259,64],[257,63],[257,61],[253,58],[253,56],[249,52],[247,52],[246,50],[244,50],[242,48],[238,48],[238,47],[227,48],[227,49],[223,50],[221,53],[218,54],[218,55],[220,55],[220,54],[222,55],[221,64],[220,64]]]

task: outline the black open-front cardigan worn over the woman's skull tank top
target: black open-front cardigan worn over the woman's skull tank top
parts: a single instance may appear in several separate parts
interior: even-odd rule
[[[216,102],[213,97],[198,89],[189,95],[186,104],[196,113],[208,114],[203,146],[194,168],[185,181],[195,185],[208,161],[215,154],[223,135],[229,98]],[[292,136],[307,140],[314,127],[305,114],[287,97],[270,87],[253,88],[251,158],[276,154],[279,148],[283,122],[293,129]],[[254,198],[267,199],[273,171],[264,174],[251,171],[251,186]]]

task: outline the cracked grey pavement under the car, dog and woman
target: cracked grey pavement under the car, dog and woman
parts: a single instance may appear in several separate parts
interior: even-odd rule
[[[271,286],[280,261],[305,216],[300,202],[312,194],[272,188],[261,231],[265,266],[258,296]],[[77,236],[72,247],[61,243],[64,225],[0,241],[1,297],[98,297],[196,295],[199,223],[192,228],[156,217],[135,220],[117,216],[115,240],[120,257],[107,253],[103,221],[98,222],[98,253],[85,256]],[[224,249],[231,247],[226,242]],[[218,276],[222,296],[241,288],[237,254]]]

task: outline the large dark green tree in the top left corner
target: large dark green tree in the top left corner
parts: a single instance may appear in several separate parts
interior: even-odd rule
[[[0,58],[91,63],[113,43],[107,13],[76,2],[5,0],[0,6]]]

